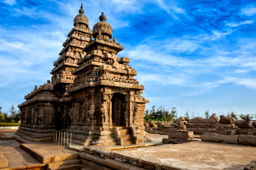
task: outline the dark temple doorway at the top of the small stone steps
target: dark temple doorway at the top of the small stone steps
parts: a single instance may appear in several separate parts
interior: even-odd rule
[[[124,96],[114,93],[112,102],[112,126],[124,126]]]

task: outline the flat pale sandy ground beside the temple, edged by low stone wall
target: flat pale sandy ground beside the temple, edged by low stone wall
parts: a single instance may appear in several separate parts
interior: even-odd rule
[[[214,142],[167,144],[122,152],[158,159],[160,162],[189,170],[243,170],[256,160],[256,147]]]

